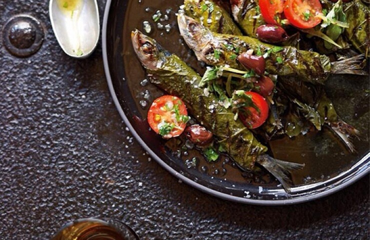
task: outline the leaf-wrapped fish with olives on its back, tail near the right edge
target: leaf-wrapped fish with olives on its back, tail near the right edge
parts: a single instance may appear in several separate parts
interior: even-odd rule
[[[298,50],[292,46],[277,47],[248,36],[214,33],[183,14],[177,16],[177,22],[180,34],[198,60],[209,65],[227,64],[244,69],[236,56],[251,49],[255,53],[269,53],[265,62],[266,71],[270,74],[293,76],[302,81],[323,84],[330,73],[367,74],[360,70],[363,55],[330,62],[328,56],[317,52]]]

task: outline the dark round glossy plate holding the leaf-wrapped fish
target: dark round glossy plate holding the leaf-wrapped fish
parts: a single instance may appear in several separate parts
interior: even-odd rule
[[[104,67],[113,101],[132,134],[160,165],[182,181],[214,196],[265,205],[316,199],[353,183],[368,172],[367,77],[335,76],[326,84],[327,95],[339,115],[362,132],[361,140],[354,140],[356,154],[349,153],[328,129],[268,142],[269,154],[305,163],[302,170],[292,173],[294,187],[289,195],[266,172],[242,172],[225,156],[209,163],[196,149],[186,147],[184,139],[166,142],[150,131],[146,111],[162,92],[145,82],[145,72],[131,46],[130,32],[134,28],[143,30],[142,22],[148,21],[153,29],[151,37],[201,71],[178,35],[174,12],[180,4],[181,0],[107,0],[103,21]],[[152,17],[157,10],[163,14],[160,18],[165,18],[164,14],[168,16],[168,20],[158,21],[163,29]],[[171,28],[169,32],[166,24]]]

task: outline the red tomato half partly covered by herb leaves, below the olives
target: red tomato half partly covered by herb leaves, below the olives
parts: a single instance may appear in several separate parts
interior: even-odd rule
[[[244,125],[250,129],[257,128],[266,121],[268,117],[268,104],[263,96],[256,92],[246,91],[245,94],[251,96],[253,103],[257,106],[259,111],[254,107],[245,107],[245,112],[239,113],[240,120]]]

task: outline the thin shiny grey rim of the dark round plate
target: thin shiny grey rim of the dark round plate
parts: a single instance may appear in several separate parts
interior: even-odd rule
[[[263,199],[252,199],[252,198],[245,198],[245,197],[240,197],[240,196],[233,196],[227,193],[223,193],[211,188],[208,188],[200,183],[197,183],[190,178],[182,175],[181,173],[177,172],[174,170],[171,166],[169,166],[167,163],[165,163],[158,155],[156,155],[151,148],[142,140],[142,138],[139,136],[139,134],[136,132],[136,130],[133,128],[132,124],[128,120],[127,116],[123,112],[122,106],[119,103],[119,100],[115,94],[115,90],[113,87],[112,83],[112,78],[110,75],[109,71],[109,65],[108,65],[108,57],[107,57],[107,38],[106,38],[106,32],[107,32],[107,21],[108,21],[108,16],[109,16],[109,11],[110,11],[110,5],[111,5],[112,0],[107,0],[105,3],[105,8],[104,8],[104,16],[103,16],[103,25],[102,25],[102,55],[103,55],[103,65],[104,65],[104,72],[105,72],[105,77],[106,81],[108,84],[110,96],[112,97],[112,100],[114,102],[114,105],[123,119],[124,123],[126,126],[129,128],[130,132],[132,135],[135,137],[135,139],[138,141],[138,143],[143,147],[149,154],[150,156],[157,162],[161,167],[166,169],[169,173],[171,173],[173,176],[177,177],[181,181],[185,182],[186,184],[190,185],[191,187],[194,187],[202,192],[208,193],[210,195],[216,196],[221,199],[225,200],[230,200],[234,202],[239,202],[239,203],[246,203],[246,204],[253,204],[253,205],[290,205],[290,204],[297,204],[297,203],[303,203],[311,200],[315,200],[327,195],[330,195],[334,192],[337,192],[352,183],[356,182],[358,179],[362,178],[365,176],[367,173],[370,172],[370,162],[368,161],[370,158],[370,152],[367,152],[356,164],[351,166],[349,169],[346,171],[343,171],[339,173],[337,176],[330,178],[326,181],[319,182],[320,184],[325,186],[325,182],[333,181],[335,178],[340,178],[340,180],[336,180],[335,183],[338,181],[339,184],[334,185],[333,187],[330,187],[330,185],[326,186],[325,189],[317,192],[313,192],[311,195],[305,195],[305,196],[297,196],[295,198],[286,198],[286,199],[276,199],[276,200],[263,200]],[[366,162],[367,161],[367,162]],[[353,169],[355,168],[358,163],[364,164],[363,167],[358,167],[358,169]],[[349,176],[346,176],[344,178],[341,178],[342,175],[349,174]],[[352,177],[350,177],[352,176]],[[335,184],[331,183],[331,185]],[[306,185],[307,186],[307,185]],[[293,189],[293,188],[292,188]]]

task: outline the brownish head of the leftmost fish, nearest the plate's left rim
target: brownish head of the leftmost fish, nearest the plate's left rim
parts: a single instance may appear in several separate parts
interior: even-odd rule
[[[131,32],[131,41],[141,64],[149,70],[158,69],[159,49],[157,42],[137,29]]]

